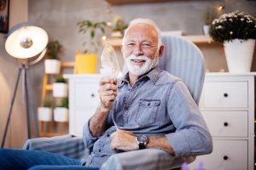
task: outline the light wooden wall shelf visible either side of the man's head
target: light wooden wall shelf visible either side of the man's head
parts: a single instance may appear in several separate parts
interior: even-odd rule
[[[193,35],[193,36],[183,36],[187,40],[194,42],[195,44],[211,44],[211,43],[218,43],[212,40],[211,37],[204,36],[204,35]],[[122,45],[121,38],[108,38],[105,40],[105,43],[109,43],[113,47],[120,47]]]

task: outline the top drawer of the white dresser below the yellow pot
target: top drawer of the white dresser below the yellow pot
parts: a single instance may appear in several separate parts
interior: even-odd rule
[[[97,82],[78,82],[74,85],[74,105],[98,106],[100,99],[98,94],[99,85]]]

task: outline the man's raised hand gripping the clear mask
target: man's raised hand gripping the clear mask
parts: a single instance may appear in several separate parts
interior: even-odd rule
[[[110,77],[102,77],[98,93],[101,99],[102,111],[110,111],[113,107],[113,100],[117,96],[117,79]]]

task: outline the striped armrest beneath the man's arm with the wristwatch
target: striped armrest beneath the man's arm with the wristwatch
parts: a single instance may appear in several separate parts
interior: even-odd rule
[[[110,156],[101,170],[140,170],[142,167],[148,170],[167,170],[181,167],[184,162],[190,163],[194,160],[195,156],[177,158],[164,150],[134,150]]]

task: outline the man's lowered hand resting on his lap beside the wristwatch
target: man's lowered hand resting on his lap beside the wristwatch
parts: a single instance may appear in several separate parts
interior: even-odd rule
[[[134,133],[124,130],[117,130],[116,132],[112,133],[111,138],[111,150],[130,151],[139,149],[136,141],[137,136]]]

